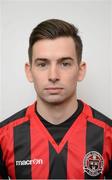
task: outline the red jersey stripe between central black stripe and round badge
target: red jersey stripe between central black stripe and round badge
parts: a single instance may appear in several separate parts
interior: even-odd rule
[[[80,126],[79,126],[80,124]],[[79,126],[79,128],[78,128]],[[86,121],[82,116],[68,141],[68,179],[84,179],[83,159],[85,156]]]

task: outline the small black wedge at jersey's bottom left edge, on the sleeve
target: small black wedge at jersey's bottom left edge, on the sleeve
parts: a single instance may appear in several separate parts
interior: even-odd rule
[[[3,152],[1,148],[0,148],[0,176],[3,179],[8,179],[8,173],[7,173],[5,163],[3,161]]]

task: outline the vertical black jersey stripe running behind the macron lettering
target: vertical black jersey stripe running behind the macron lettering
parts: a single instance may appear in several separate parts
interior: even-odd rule
[[[14,155],[16,179],[31,179],[31,165],[25,165],[31,160],[30,121],[14,128]],[[24,161],[23,165],[20,161]]]

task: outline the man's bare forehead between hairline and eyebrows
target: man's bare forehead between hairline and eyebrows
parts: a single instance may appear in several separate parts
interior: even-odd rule
[[[61,56],[76,56],[75,42],[71,37],[44,39],[33,45],[33,59],[37,57],[59,58]]]

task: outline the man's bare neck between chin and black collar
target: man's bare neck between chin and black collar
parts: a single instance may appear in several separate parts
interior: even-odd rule
[[[78,103],[75,97],[60,104],[45,103],[40,99],[37,101],[38,113],[52,124],[64,122],[77,110],[77,107]]]

